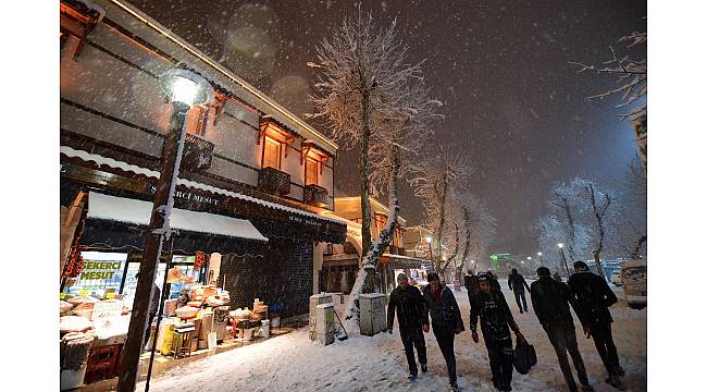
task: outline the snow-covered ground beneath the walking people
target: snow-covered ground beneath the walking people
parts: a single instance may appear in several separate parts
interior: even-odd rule
[[[537,322],[535,314],[520,315],[505,280],[501,282],[516,321],[528,341],[535,346],[537,365],[521,376],[513,373],[518,391],[567,391],[555,351]],[[619,303],[611,308],[613,339],[630,391],[646,390],[646,309],[633,310],[615,289]],[[469,332],[467,292],[455,292],[462,311],[466,331],[457,335],[455,352],[459,387],[462,391],[493,391],[491,370],[483,339],[474,344]],[[530,296],[528,296],[531,308]],[[340,305],[337,305],[339,309]],[[343,309],[343,308],[340,308]],[[339,310],[340,310],[339,309]],[[594,342],[585,339],[575,318],[578,342],[595,391],[613,391],[604,382],[606,370]],[[175,368],[150,385],[151,391],[445,391],[446,366],[434,335],[426,334],[430,371],[418,381],[407,380],[407,362],[397,331],[375,336],[351,335],[328,346],[318,346],[302,328],[260,344],[233,350]],[[144,384],[138,385],[138,391]]]

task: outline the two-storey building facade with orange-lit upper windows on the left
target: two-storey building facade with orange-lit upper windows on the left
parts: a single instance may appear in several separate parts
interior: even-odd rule
[[[158,79],[181,68],[214,97],[186,115],[174,207],[190,218],[170,252],[185,272],[228,290],[232,308],[259,298],[282,303],[283,317],[308,311],[314,259],[346,237],[345,222],[325,216],[335,209],[336,144],[122,1],[62,0],[60,66],[60,267],[77,247],[121,262],[112,281],[82,274],[66,290],[135,283],[146,229],[137,211],[154,193],[172,117]],[[231,231],[215,230],[220,222]],[[199,252],[208,262],[190,268]]]

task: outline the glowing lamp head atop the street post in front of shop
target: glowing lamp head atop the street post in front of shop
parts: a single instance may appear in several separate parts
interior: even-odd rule
[[[213,99],[209,82],[188,70],[170,70],[160,75],[160,87],[172,101],[187,106],[207,103]]]

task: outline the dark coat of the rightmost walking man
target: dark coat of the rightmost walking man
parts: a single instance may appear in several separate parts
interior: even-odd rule
[[[575,272],[568,280],[568,285],[576,302],[576,316],[582,324],[613,321],[609,306],[618,299],[601,277],[592,272]]]

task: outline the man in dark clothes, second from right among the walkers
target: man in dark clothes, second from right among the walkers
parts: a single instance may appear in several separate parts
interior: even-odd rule
[[[586,377],[582,355],[576,347],[574,320],[572,319],[568,304],[572,305],[575,314],[579,313],[576,303],[570,295],[570,289],[567,284],[555,281],[550,277],[550,270],[547,267],[538,268],[537,277],[539,279],[531,284],[530,290],[533,310],[547,333],[547,338],[549,338],[553,347],[555,347],[565,381],[571,392],[578,391],[572,368],[567,359],[567,352],[569,352],[574,363],[574,368],[576,369],[576,376],[582,384],[582,390],[592,391],[593,389],[590,387],[590,380]]]

